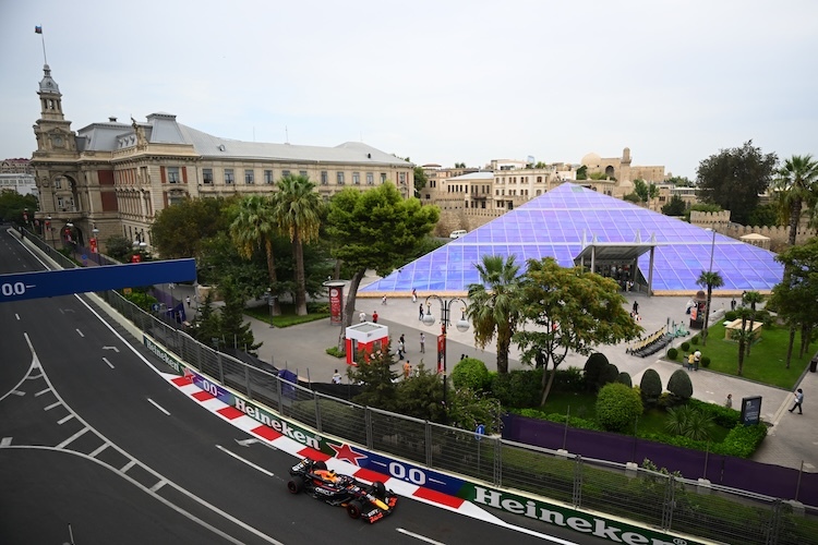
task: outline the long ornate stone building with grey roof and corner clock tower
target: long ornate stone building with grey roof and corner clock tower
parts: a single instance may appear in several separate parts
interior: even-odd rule
[[[130,123],[109,118],[74,132],[47,64],[37,94],[40,119],[31,161],[40,195],[37,218],[50,216],[63,240],[70,233],[85,243],[88,233],[98,233],[104,245],[122,234],[151,251],[151,225],[173,203],[268,194],[287,174],[310,177],[325,198],[386,181],[410,197],[414,186],[413,165],[358,142],[320,147],[227,140],[181,124],[171,113]]]

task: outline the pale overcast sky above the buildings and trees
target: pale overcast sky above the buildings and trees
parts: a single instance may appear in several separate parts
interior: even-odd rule
[[[816,20],[815,0],[0,0],[0,159],[36,148],[40,25],[74,130],[168,112],[444,167],[627,146],[694,178],[750,138],[818,155]]]

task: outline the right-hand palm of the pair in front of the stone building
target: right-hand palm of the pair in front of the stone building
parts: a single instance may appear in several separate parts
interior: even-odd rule
[[[306,277],[304,275],[304,242],[317,240],[321,227],[321,197],[315,184],[305,175],[286,175],[278,181],[278,193],[273,197],[273,216],[282,234],[292,243],[296,264],[296,314],[306,315]]]

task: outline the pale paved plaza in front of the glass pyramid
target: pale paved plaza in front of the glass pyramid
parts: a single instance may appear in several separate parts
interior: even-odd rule
[[[368,278],[368,280],[372,280]],[[378,324],[389,327],[393,339],[406,335],[407,358],[412,365],[421,362],[426,366],[435,362],[435,339],[440,332],[441,310],[436,300],[431,300],[432,315],[435,325],[424,326],[418,319],[418,305],[425,303],[425,293],[419,294],[418,303],[412,303],[411,298],[389,299],[386,305],[381,304],[380,299],[358,298],[357,312],[365,312],[371,317],[372,312],[377,311]],[[639,302],[639,314],[642,317],[641,325],[646,332],[652,332],[669,322],[684,322],[687,325],[688,316],[685,314],[685,304],[688,298],[648,298],[640,293],[628,293],[627,307],[630,308],[634,300]],[[715,312],[730,307],[729,299],[714,299]],[[459,305],[453,305],[453,318],[459,318]],[[312,322],[286,329],[270,328],[267,324],[250,319],[253,334],[257,341],[264,341],[258,350],[260,358],[272,362],[279,368],[296,371],[302,378],[313,382],[329,382],[336,368],[345,375],[345,361],[338,360],[326,353],[326,349],[336,346],[340,332],[340,326],[329,324],[328,319]],[[356,317],[357,322],[357,317]],[[420,353],[420,332],[425,334],[425,354]],[[685,339],[676,339],[674,346],[681,344]],[[625,353],[626,344],[602,348],[602,352],[609,361],[615,364],[621,372],[630,374],[634,384],[639,384],[642,373],[647,368],[655,370],[662,377],[662,384],[666,386],[671,374],[679,368],[679,364],[660,360],[660,354],[648,358],[638,358]],[[450,327],[448,331],[448,372],[460,359],[460,354],[474,356],[483,360],[490,370],[496,368],[494,346],[480,350],[474,347],[473,331],[470,329],[460,332]],[[510,368],[522,368],[520,354],[513,347],[510,353]],[[569,355],[563,364],[565,367],[574,365],[582,367],[586,358]],[[805,373],[798,387],[804,389],[804,414],[790,413],[786,410],[792,407],[793,393],[780,388],[760,385],[750,380],[733,376],[722,375],[701,368],[689,372],[694,386],[694,397],[702,401],[723,403],[727,393],[733,395],[734,407],[738,407],[742,398],[749,396],[761,396],[762,419],[772,424],[768,438],[762,447],[754,456],[754,460],[775,465],[799,469],[815,472],[818,468],[818,373]]]

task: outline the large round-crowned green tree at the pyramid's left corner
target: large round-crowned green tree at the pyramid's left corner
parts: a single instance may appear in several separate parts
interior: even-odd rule
[[[330,253],[352,276],[341,335],[352,324],[356,294],[366,269],[383,277],[406,263],[438,218],[437,207],[421,206],[417,198],[404,199],[392,183],[364,192],[346,189],[333,196],[327,216]]]

